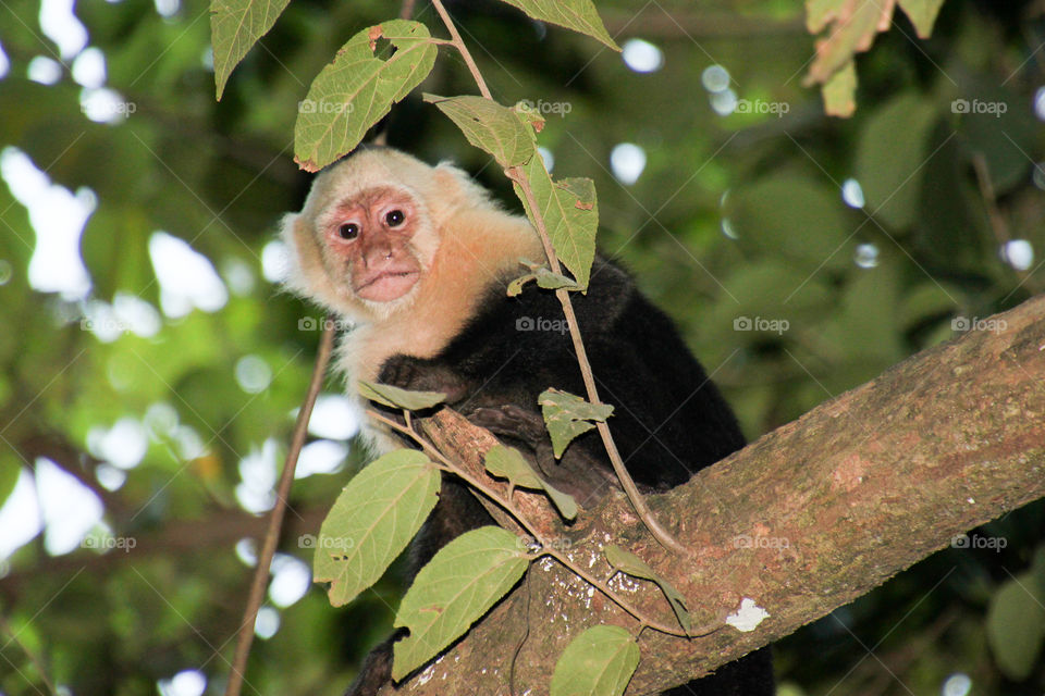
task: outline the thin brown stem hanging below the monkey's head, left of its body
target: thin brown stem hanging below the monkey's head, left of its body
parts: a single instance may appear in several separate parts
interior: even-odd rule
[[[243,622],[239,624],[239,635],[236,638],[236,652],[232,661],[232,671],[229,674],[229,684],[225,686],[225,696],[239,696],[243,687],[243,675],[247,670],[247,657],[250,655],[250,644],[254,642],[254,624],[258,619],[258,609],[265,598],[265,588],[269,583],[269,568],[275,556],[275,546],[280,540],[280,531],[283,529],[283,518],[286,513],[287,498],[291,495],[291,485],[294,483],[294,470],[297,468],[297,458],[305,446],[308,433],[308,420],[312,415],[316,397],[323,386],[323,375],[327,374],[327,363],[334,345],[334,322],[330,316],[323,318],[323,335],[319,341],[319,352],[312,368],[312,378],[308,385],[305,402],[297,413],[294,424],[294,435],[291,438],[291,448],[286,452],[286,462],[283,464],[283,474],[275,494],[275,506],[272,517],[269,518],[269,529],[265,533],[261,552],[258,555],[258,567],[254,571],[250,593],[247,596],[247,606],[243,612]]]

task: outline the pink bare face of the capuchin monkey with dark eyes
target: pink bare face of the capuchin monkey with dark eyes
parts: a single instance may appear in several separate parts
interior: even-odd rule
[[[344,261],[357,297],[391,302],[417,285],[421,264],[410,244],[416,213],[409,196],[386,188],[369,189],[335,208],[327,244]]]

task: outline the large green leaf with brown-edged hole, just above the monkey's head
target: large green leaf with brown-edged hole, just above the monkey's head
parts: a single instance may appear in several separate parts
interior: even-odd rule
[[[374,57],[379,39],[396,48],[388,60]],[[437,47],[430,39],[423,24],[405,20],[378,24],[348,39],[298,107],[294,161],[315,172],[355,148],[367,129],[431,72]]]

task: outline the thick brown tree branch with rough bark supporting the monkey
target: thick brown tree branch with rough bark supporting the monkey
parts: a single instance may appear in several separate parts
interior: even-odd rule
[[[627,693],[655,693],[713,670],[866,594],[955,535],[1045,497],[1043,318],[1045,297],[1034,298],[997,315],[1001,331],[924,351],[651,499],[693,549],[690,558],[652,540],[623,495],[565,531],[544,508],[542,526],[557,530],[560,547],[585,568],[608,577],[599,549],[629,548],[681,592],[694,625],[718,629],[691,641],[642,632]],[[463,432],[440,445],[471,442],[463,453],[476,457],[481,447],[467,439],[469,427],[444,420],[443,435]],[[651,583],[618,576],[612,585],[648,616],[671,620]],[[746,597],[770,617],[741,633],[724,621]],[[395,693],[546,694],[558,655],[595,623],[638,629],[543,559],[465,639]]]

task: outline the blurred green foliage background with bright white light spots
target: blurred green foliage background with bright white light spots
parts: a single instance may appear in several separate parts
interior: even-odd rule
[[[594,178],[603,252],[751,438],[1045,287],[1041,0],[949,0],[924,41],[898,13],[858,58],[845,121],[802,85],[796,3],[600,2],[623,57],[493,1],[447,4],[494,96],[545,110],[555,175]],[[279,216],[309,182],[297,102],[397,11],[296,0],[219,103],[198,0],[0,8],[0,694],[221,693],[245,539],[319,336],[274,284]],[[443,35],[426,3],[416,16]],[[475,91],[448,52],[423,89]],[[417,96],[389,137],[518,208]],[[395,573],[344,610],[308,585],[307,535],[361,461],[339,389],[246,693],[339,694],[391,625]],[[799,631],[776,649],[780,693],[1041,695],[1043,533],[1042,504],[1010,513]]]

